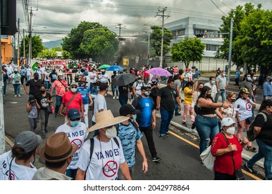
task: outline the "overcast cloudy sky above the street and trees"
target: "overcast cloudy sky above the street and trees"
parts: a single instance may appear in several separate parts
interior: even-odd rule
[[[17,18],[20,19],[20,31],[28,30],[26,10],[23,3],[17,0]],[[221,24],[222,15],[228,15],[231,8],[246,2],[262,3],[264,9],[271,9],[269,0],[27,0],[33,9],[33,34],[40,35],[43,42],[62,39],[71,28],[80,21],[99,22],[121,35],[144,33],[150,31],[150,25],[162,25],[162,18],[156,16],[158,8],[167,10],[165,23],[185,17],[201,17],[213,19]],[[62,34],[63,33],[63,34]]]

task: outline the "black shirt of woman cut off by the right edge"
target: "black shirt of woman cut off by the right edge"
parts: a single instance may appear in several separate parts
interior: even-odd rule
[[[266,114],[265,112],[263,112]],[[269,146],[272,146],[272,114],[266,114],[267,121],[264,122],[264,116],[262,114],[258,114],[255,118],[255,127],[261,127],[262,130],[260,134],[256,137],[264,141]]]

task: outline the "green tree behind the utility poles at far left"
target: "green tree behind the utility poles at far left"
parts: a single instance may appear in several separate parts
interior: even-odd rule
[[[26,58],[28,58],[29,37],[26,35],[25,39],[25,51]],[[20,47],[24,48],[24,39],[20,42]],[[44,46],[42,46],[42,39],[38,35],[32,37],[32,58],[37,58],[37,55],[42,52]],[[20,49],[20,56],[24,56],[24,49]]]

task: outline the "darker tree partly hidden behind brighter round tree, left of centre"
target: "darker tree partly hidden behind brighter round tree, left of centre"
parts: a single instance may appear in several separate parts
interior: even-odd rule
[[[82,53],[82,49],[80,49],[80,44],[83,41],[84,33],[86,30],[92,30],[101,27],[103,26],[97,22],[81,21],[80,24],[78,24],[78,27],[71,29],[69,35],[62,39],[63,50],[71,53],[73,58],[86,58],[87,54]]]

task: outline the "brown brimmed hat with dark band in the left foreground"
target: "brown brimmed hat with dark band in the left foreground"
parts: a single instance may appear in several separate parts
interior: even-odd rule
[[[40,157],[45,161],[58,162],[71,157],[76,150],[78,150],[78,146],[70,143],[67,134],[58,132],[46,140],[40,150]]]

